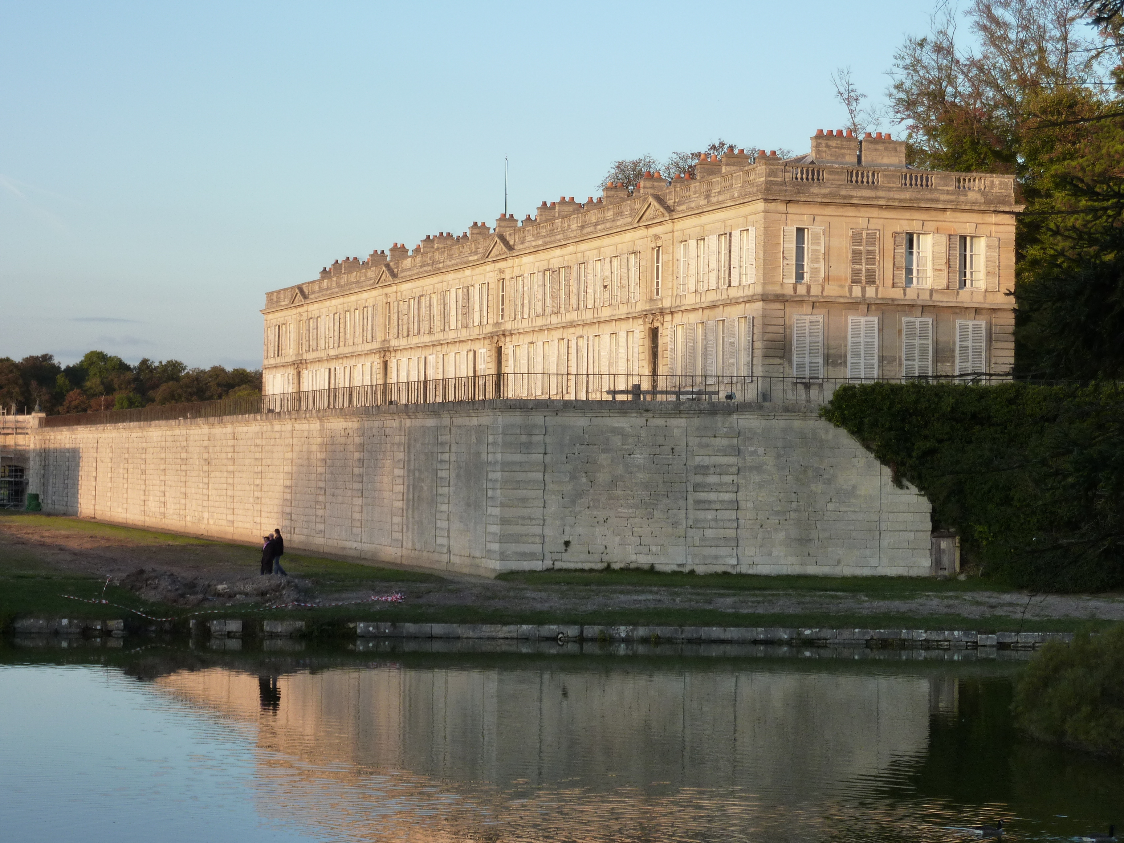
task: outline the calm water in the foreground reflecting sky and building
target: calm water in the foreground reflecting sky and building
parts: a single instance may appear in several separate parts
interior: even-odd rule
[[[0,834],[944,841],[1004,817],[1041,841],[1121,822],[1121,768],[1012,729],[1018,662],[728,653],[8,647]]]

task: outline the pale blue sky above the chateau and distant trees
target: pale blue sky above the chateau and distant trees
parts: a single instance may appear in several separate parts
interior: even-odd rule
[[[931,9],[0,0],[0,356],[257,366],[266,290],[495,225],[505,152],[520,219],[620,157],[803,152]]]

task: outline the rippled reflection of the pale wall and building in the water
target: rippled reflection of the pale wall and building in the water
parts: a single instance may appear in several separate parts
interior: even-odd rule
[[[543,799],[572,803],[551,821],[573,825],[560,840],[597,839],[590,822],[660,839],[664,824],[711,827],[715,789],[740,795],[742,825],[815,826],[924,750],[933,699],[915,676],[750,667],[329,670],[280,677],[275,709],[253,674],[157,686],[256,724],[263,812],[364,828],[377,814],[405,840],[460,840],[482,816],[542,824]]]

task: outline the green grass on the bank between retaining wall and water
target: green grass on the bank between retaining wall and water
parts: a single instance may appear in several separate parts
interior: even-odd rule
[[[65,534],[93,536],[100,540],[100,552],[120,546],[127,554],[129,547],[162,547],[157,558],[169,561],[167,568],[175,570],[176,560],[191,561],[196,574],[219,575],[226,571],[256,571],[257,549],[252,545],[193,538],[172,533],[119,527],[97,522],[37,514],[0,514],[0,527],[19,525],[40,531],[39,535],[48,544],[51,533],[58,536],[55,544],[65,545]],[[70,600],[62,595],[74,595],[85,599],[105,599],[155,617],[180,618],[185,627],[187,618],[199,609],[151,605],[140,600],[127,589],[106,587],[105,579],[93,574],[60,571],[46,561],[47,549],[36,544],[8,541],[0,534],[0,628],[18,616],[71,617],[71,618],[129,618],[120,608],[84,604]],[[115,541],[117,540],[117,541]],[[81,553],[81,551],[76,551]],[[152,559],[149,552],[148,559]],[[151,564],[146,563],[146,564]],[[330,601],[333,593],[346,590],[370,589],[389,592],[398,583],[441,583],[435,574],[378,568],[343,560],[327,559],[311,554],[287,553],[284,565],[292,573],[307,578],[321,601]],[[139,565],[138,565],[139,566]],[[214,570],[214,574],[209,571]],[[200,574],[199,571],[203,571]],[[230,575],[221,573],[221,575]],[[242,573],[239,575],[245,575]],[[840,608],[815,614],[744,614],[719,611],[706,607],[683,608],[674,605],[656,605],[643,608],[613,608],[574,614],[552,610],[552,592],[570,592],[575,587],[591,587],[609,591],[614,588],[628,590],[635,587],[646,589],[669,589],[669,604],[673,604],[674,589],[722,589],[729,591],[788,591],[822,592],[861,598],[903,598],[932,593],[964,593],[980,591],[1012,591],[1009,586],[979,578],[966,581],[955,579],[936,581],[928,578],[906,577],[762,577],[750,574],[656,573],[643,570],[596,570],[596,571],[533,571],[506,573],[501,581],[526,583],[542,588],[544,598],[533,608],[497,609],[472,605],[468,599],[453,605],[368,604],[328,607],[321,609],[254,610],[253,605],[225,607],[219,617],[293,618],[308,622],[309,628],[324,634],[348,633],[346,624],[354,620],[397,620],[434,623],[475,624],[586,624],[586,625],[653,625],[653,626],[760,626],[760,627],[824,627],[824,628],[889,628],[889,629],[976,629],[978,632],[1071,632],[1077,628],[1099,629],[1112,626],[1112,622],[1086,622],[1076,618],[1037,619],[1023,623],[1017,617],[995,616],[984,619],[961,615],[918,616],[916,614],[859,614],[845,608],[847,600],[840,600]],[[445,581],[447,582],[447,581]],[[452,583],[450,583],[452,587]],[[850,601],[851,606],[855,601]],[[133,616],[135,617],[135,616]],[[203,615],[202,617],[207,617]]]

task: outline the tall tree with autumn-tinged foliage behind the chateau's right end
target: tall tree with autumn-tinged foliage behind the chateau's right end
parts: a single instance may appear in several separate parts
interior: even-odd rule
[[[910,161],[1018,180],[1026,211],[1017,221],[1015,356],[1024,375],[1124,371],[1124,54],[1120,18],[1097,22],[1086,11],[1093,6],[975,0],[966,18],[979,46],[962,46],[960,21],[946,11],[895,55],[890,106],[907,124]]]

